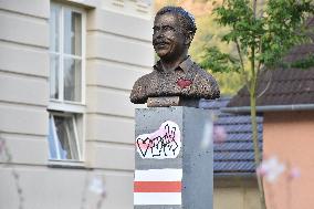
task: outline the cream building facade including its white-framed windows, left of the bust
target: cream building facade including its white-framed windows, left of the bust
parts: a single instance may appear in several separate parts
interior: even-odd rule
[[[154,64],[151,14],[140,0],[0,0],[0,208],[95,208],[95,178],[102,208],[133,208],[128,95]]]

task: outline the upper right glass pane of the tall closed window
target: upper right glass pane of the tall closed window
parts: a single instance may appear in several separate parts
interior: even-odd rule
[[[82,54],[82,14],[64,11],[64,53]]]

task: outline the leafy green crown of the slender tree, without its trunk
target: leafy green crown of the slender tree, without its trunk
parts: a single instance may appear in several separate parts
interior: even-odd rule
[[[236,44],[243,62],[254,62],[259,66],[276,65],[289,49],[308,41],[302,23],[313,11],[312,0],[269,0],[261,10],[249,0],[226,0],[216,9],[217,21],[231,29],[221,41]],[[211,60],[221,59],[211,51]]]

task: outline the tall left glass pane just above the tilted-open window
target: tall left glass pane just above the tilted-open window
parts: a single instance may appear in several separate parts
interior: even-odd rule
[[[50,97],[59,98],[59,55],[50,54]]]

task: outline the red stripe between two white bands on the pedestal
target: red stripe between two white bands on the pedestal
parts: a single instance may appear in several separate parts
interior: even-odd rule
[[[181,181],[134,181],[134,192],[181,192]]]

